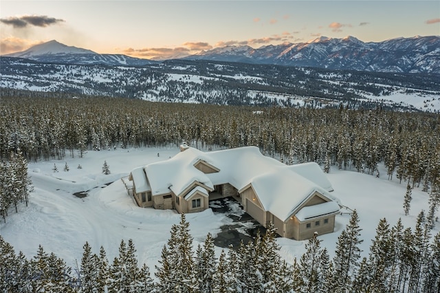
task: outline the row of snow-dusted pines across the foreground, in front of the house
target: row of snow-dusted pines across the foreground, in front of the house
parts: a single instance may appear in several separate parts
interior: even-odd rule
[[[360,257],[358,214],[354,211],[338,237],[330,259],[318,237],[309,239],[306,252],[292,265],[278,254],[275,230],[257,235],[238,250],[221,251],[217,259],[210,234],[194,251],[185,215],[171,228],[156,266],[156,280],[146,264],[140,268],[131,239],[120,243],[119,255],[109,263],[104,248],[91,252],[83,246],[80,264],[72,270],[42,246],[28,260],[0,237],[1,292],[438,292],[440,233],[430,241],[423,212],[415,230],[399,220],[390,227],[381,219],[369,257]]]

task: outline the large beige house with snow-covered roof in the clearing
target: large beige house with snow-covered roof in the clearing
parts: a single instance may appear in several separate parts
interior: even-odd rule
[[[195,213],[210,198],[234,197],[261,225],[272,222],[296,240],[333,232],[340,210],[318,164],[287,166],[256,146],[205,153],[183,145],[173,158],[134,169],[129,180],[139,206]]]

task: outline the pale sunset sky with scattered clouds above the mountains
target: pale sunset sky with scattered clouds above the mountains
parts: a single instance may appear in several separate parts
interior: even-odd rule
[[[225,45],[440,35],[440,1],[0,1],[0,54],[56,40],[172,58]]]

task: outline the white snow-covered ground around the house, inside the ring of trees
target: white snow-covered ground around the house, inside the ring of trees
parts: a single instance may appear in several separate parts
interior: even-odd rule
[[[104,246],[109,261],[118,255],[121,239],[133,239],[140,263],[146,263],[152,272],[160,259],[162,247],[170,236],[170,227],[177,224],[180,215],[174,210],[139,208],[126,193],[121,177],[144,164],[167,160],[179,152],[177,146],[164,148],[116,149],[89,151],[84,158],[65,158],[30,162],[29,174],[35,187],[28,207],[19,206],[19,213],[10,210],[6,223],[0,224],[0,233],[17,250],[33,257],[41,244],[47,252],[54,252],[75,267],[75,261],[83,254],[83,245],[89,241],[93,252]],[[159,153],[159,156],[157,154]],[[104,160],[111,174],[102,174]],[[65,163],[69,171],[63,171]],[[52,170],[56,164],[58,172]],[[77,169],[78,164],[82,169]],[[428,209],[428,194],[415,188],[412,191],[410,215],[402,208],[406,183],[388,181],[386,171],[380,170],[381,178],[355,171],[338,171],[332,166],[328,175],[333,184],[333,195],[344,206],[358,210],[362,230],[362,256],[368,255],[371,239],[379,220],[386,217],[393,226],[399,217],[405,227],[414,228],[420,210]],[[87,191],[88,196],[73,195]],[[343,212],[346,210],[342,210]],[[348,210],[347,210],[348,211]],[[440,213],[437,213],[440,217]],[[322,235],[333,257],[338,235],[349,221],[349,215],[337,215],[335,232]],[[208,209],[202,213],[188,214],[194,246],[204,241],[208,232],[216,235],[220,227],[232,220]],[[439,231],[440,223],[432,231]],[[281,256],[289,263],[305,252],[305,241],[278,238]],[[217,256],[222,248],[217,248]]]

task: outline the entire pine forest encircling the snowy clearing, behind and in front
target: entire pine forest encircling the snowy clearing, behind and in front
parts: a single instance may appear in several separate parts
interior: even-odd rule
[[[318,162],[426,191],[430,208],[414,229],[377,223],[368,257],[360,257],[362,228],[354,210],[338,237],[335,257],[318,237],[293,264],[278,254],[276,232],[214,254],[212,236],[192,246],[185,215],[162,248],[155,278],[138,265],[135,243],[122,240],[119,256],[83,247],[76,267],[42,246],[28,259],[0,236],[0,292],[440,292],[440,234],[432,235],[440,204],[440,116],[376,109],[248,107],[146,102],[124,98],[2,95],[0,100],[0,212],[6,221],[28,203],[27,164],[82,157],[87,151],[166,147],[199,149],[259,146],[286,164]],[[64,162],[63,162],[64,164]],[[379,172],[384,164],[387,173]],[[79,168],[80,166],[78,166]],[[56,166],[55,166],[56,168]],[[65,163],[65,170],[69,166]],[[110,173],[107,162],[102,173]],[[403,198],[403,195],[402,195]],[[159,256],[158,256],[159,257]]]

